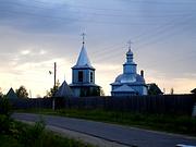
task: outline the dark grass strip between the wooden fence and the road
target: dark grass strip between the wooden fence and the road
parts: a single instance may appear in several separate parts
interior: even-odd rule
[[[137,126],[142,128],[196,136],[196,118],[187,115],[133,113],[87,109],[28,109],[19,112],[61,115]]]

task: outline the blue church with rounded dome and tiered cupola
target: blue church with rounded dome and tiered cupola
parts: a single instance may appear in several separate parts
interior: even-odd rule
[[[123,64],[123,74],[120,74],[111,85],[112,96],[147,95],[147,85],[144,71],[137,74],[137,64],[133,61],[131,42],[126,52],[126,62]]]

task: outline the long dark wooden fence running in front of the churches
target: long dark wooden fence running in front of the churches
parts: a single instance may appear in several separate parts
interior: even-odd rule
[[[11,99],[10,101],[16,109],[52,108],[52,98]],[[105,109],[174,114],[192,114],[195,103],[196,95],[56,98],[56,109]]]

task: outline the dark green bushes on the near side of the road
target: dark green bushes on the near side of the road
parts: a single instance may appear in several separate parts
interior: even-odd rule
[[[3,98],[0,102],[1,147],[90,147],[45,130],[45,122],[41,120],[34,125],[27,125],[12,120],[10,114],[9,100]]]

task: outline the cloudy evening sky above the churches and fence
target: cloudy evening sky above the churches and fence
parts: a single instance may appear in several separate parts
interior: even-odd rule
[[[96,84],[110,95],[132,40],[137,72],[166,94],[196,87],[195,0],[0,0],[0,87],[45,96],[72,82],[82,33]]]

